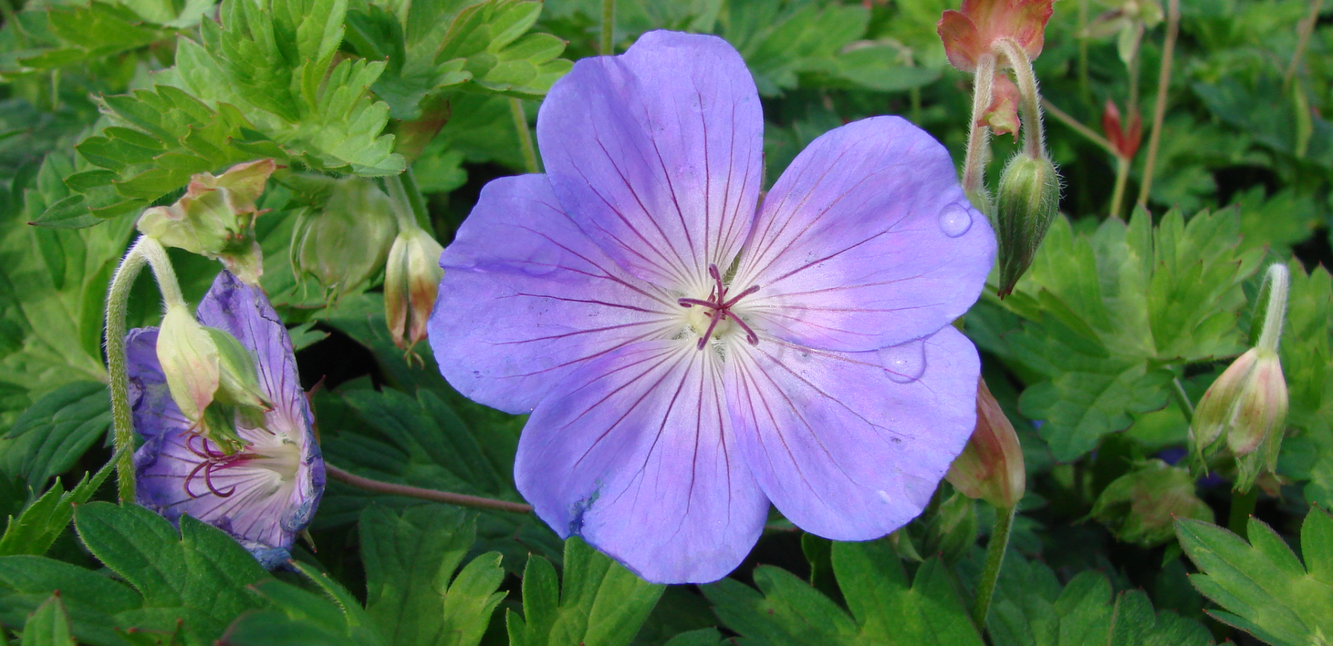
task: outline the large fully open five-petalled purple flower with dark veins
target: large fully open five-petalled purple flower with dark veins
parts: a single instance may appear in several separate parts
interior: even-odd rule
[[[948,152],[897,117],[814,140],[764,198],[740,55],[652,32],[579,61],[547,174],[492,181],[440,258],[429,338],[468,397],[532,413],[519,490],[648,581],[724,577],[769,502],[833,539],[916,517],[976,421],[949,322],[994,253]]]

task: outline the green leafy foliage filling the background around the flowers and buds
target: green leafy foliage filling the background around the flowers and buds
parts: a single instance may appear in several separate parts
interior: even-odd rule
[[[375,282],[329,305],[293,274],[296,217],[323,208],[293,177],[411,166],[448,244],[483,184],[529,170],[524,135],[571,61],[597,53],[603,7],[0,0],[0,645],[1333,643],[1333,125],[1321,116],[1333,13],[1321,7],[1182,1],[1158,96],[1156,0],[1056,3],[1036,61],[1045,97],[1094,135],[1108,100],[1149,123],[1165,101],[1161,148],[1142,204],[1109,217],[1114,157],[1048,117],[1062,216],[1013,294],[992,286],[965,318],[1028,468],[976,626],[994,510],[946,484],[890,538],[830,543],[774,515],[730,578],[672,587],[531,517],[340,482],[312,526],[317,551],[277,574],[211,526],[108,502],[101,308],[133,218],[193,173],[261,157],[288,166],[261,201],[264,286],[305,385],[328,377],[315,406],[329,462],[520,501],[524,420],[460,397],[428,354],[407,361]],[[818,135],[881,113],[961,160],[970,93],[936,35],[948,8],[623,0],[613,41],[624,51],[657,28],[730,41],[764,99],[772,182]],[[996,140],[992,177],[1013,149]],[[1145,161],[1128,166],[1132,197]],[[217,265],[172,258],[197,301]],[[1290,414],[1278,477],[1248,519],[1228,465],[1201,480],[1178,462],[1180,397],[1197,401],[1248,346],[1272,262],[1293,276]],[[145,278],[131,324],[157,316]]]

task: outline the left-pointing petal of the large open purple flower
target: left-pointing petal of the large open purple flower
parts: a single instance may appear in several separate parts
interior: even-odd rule
[[[674,298],[592,244],[540,174],[487,184],[440,266],[428,328],[440,372],[509,413],[587,360],[678,326]]]

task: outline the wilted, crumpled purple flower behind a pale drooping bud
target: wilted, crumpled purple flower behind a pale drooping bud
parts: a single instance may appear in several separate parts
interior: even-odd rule
[[[172,400],[157,361],[157,328],[129,330],[131,405],[135,430],[145,440],[135,453],[139,503],[173,522],[189,514],[212,523],[272,569],[289,558],[292,541],[309,525],[324,493],[324,458],[311,430],[292,340],[264,292],[225,270],[197,317],[255,354],[259,388],[273,409],[259,425],[236,416],[236,434],[247,445],[225,454]]]

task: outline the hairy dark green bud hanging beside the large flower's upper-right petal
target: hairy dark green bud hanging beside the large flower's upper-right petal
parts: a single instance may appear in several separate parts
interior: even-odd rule
[[[1000,176],[996,241],[1000,253],[1000,296],[1013,290],[1060,208],[1060,174],[1045,157],[1014,155]]]

